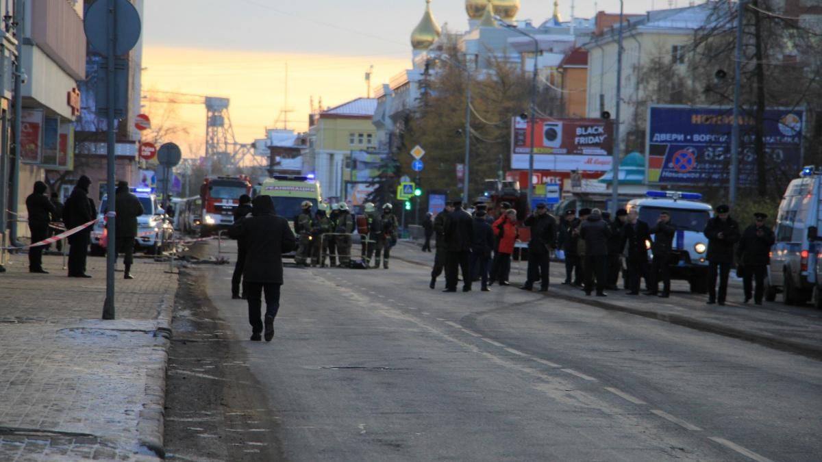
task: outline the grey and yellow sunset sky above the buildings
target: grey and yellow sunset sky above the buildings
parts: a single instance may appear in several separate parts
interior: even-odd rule
[[[553,11],[553,0],[521,3],[520,19],[542,22]],[[563,18],[570,18],[570,3],[560,2]],[[668,3],[629,0],[626,13]],[[143,91],[230,98],[237,140],[251,142],[275,127],[284,109],[288,63],[289,128],[304,131],[312,96],[324,106],[341,104],[366,95],[370,65],[372,87],[410,67],[409,35],[424,9],[425,0],[147,0]],[[575,2],[575,16],[596,10],[619,12],[619,0]],[[463,0],[432,0],[432,11],[450,30],[468,27]],[[183,151],[202,150],[204,107],[154,103],[144,110],[155,125],[165,117],[187,129],[173,140]]]

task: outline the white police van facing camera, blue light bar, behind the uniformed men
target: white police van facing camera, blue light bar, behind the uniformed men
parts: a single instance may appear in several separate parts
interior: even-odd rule
[[[629,201],[626,210],[636,209],[649,228],[657,223],[659,212],[667,210],[677,229],[669,260],[671,279],[688,281],[693,293],[708,292],[708,238],[704,230],[713,207],[700,202],[702,195],[694,192],[649,191],[646,196]],[[646,246],[650,248],[651,243]],[[653,258],[650,251],[649,257]]]

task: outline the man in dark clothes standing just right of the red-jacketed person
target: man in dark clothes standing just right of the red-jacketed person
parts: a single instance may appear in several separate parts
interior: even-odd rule
[[[531,229],[531,240],[528,243],[528,279],[520,289],[531,290],[533,284],[540,281],[539,291],[546,292],[551,251],[556,248],[556,219],[548,213],[547,206],[540,202],[523,224]]]

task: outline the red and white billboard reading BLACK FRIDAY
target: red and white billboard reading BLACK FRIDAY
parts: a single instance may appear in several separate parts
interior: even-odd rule
[[[604,172],[611,169],[613,124],[598,118],[537,118],[533,168],[553,172]],[[511,169],[528,169],[531,122],[511,123]]]

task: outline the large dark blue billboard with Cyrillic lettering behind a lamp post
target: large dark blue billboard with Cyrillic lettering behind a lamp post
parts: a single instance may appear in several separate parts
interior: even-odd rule
[[[733,109],[651,106],[648,111],[646,157],[648,181],[701,185],[727,183],[731,172]],[[802,109],[766,109],[765,168],[769,176],[794,178],[801,169]],[[756,184],[755,120],[740,119],[739,185]]]

